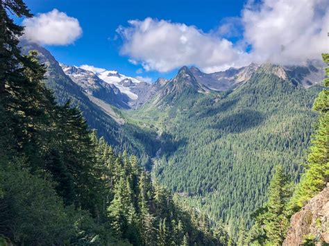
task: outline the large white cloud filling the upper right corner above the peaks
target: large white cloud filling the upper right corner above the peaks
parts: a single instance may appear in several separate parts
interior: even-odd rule
[[[328,51],[329,2],[265,0],[242,12],[244,42],[252,45],[255,62],[300,64]]]

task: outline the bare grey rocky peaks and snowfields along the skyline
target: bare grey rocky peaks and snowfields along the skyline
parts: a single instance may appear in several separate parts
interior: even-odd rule
[[[60,66],[85,93],[124,109],[142,107],[155,98],[160,100],[162,96],[175,94],[187,88],[205,94],[235,89],[250,80],[258,69],[264,73],[275,74],[283,80],[292,80],[305,88],[317,85],[323,79],[323,64],[316,60],[307,62],[305,66],[252,63],[247,67],[230,68],[215,73],[203,73],[197,67],[182,67],[175,78],[159,78],[154,83],[142,82],[137,78],[124,76],[118,71],[96,72],[65,64]]]

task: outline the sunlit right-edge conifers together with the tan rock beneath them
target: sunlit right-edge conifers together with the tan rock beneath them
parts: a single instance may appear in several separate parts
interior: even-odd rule
[[[329,54],[322,54],[329,64]],[[239,245],[327,245],[329,182],[329,69],[326,68],[323,89],[314,100],[317,114],[307,158],[298,184],[285,173],[282,165],[269,184],[268,198],[254,213],[254,223],[246,232],[239,226]],[[289,223],[290,220],[290,223]]]

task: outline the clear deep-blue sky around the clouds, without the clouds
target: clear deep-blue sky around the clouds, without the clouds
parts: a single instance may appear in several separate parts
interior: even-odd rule
[[[120,38],[113,40],[118,26],[126,25],[130,19],[152,17],[194,25],[208,32],[224,17],[239,16],[244,1],[26,0],[26,4],[34,15],[56,8],[78,19],[83,35],[74,44],[46,46],[58,61],[71,65],[91,64],[136,76],[135,71],[141,66],[131,64],[127,56],[120,55],[122,41]],[[138,76],[170,78],[174,73],[176,70],[167,73],[149,71]]]

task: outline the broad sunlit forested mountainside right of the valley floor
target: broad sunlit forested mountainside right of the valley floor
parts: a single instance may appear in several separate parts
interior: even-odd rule
[[[295,181],[301,172],[320,87],[305,89],[280,71],[264,64],[243,85],[217,94],[180,89],[187,81],[178,73],[166,85],[176,89],[130,112],[153,120],[162,140],[175,143],[158,152],[155,177],[231,229],[265,201],[273,166],[282,164]]]

